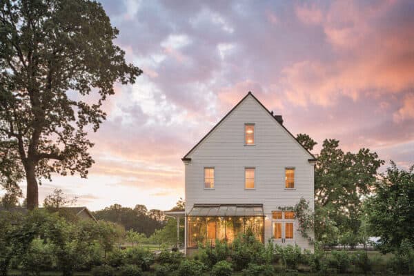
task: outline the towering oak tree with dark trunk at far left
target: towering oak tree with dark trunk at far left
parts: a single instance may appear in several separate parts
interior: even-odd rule
[[[106,119],[103,101],[116,81],[141,74],[112,42],[117,34],[95,1],[0,2],[0,137],[23,166],[29,209],[39,179],[86,177],[87,133]]]

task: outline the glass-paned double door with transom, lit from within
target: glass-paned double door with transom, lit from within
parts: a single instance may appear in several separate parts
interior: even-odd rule
[[[280,245],[295,244],[295,213],[292,211],[273,211],[273,239]]]

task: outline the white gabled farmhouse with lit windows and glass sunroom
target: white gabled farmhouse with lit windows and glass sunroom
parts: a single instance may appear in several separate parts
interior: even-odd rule
[[[313,249],[295,214],[279,207],[304,197],[313,210],[315,157],[251,92],[182,161],[187,252],[198,242],[232,242],[247,229],[264,243]]]

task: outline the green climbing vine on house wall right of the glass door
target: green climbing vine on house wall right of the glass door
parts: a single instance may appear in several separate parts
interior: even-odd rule
[[[299,222],[299,228],[297,229],[302,237],[308,239],[309,244],[313,244],[313,237],[309,236],[309,231],[314,228],[314,213],[309,209],[309,202],[303,197],[295,206],[279,207],[279,210],[290,210],[295,212],[295,217]]]

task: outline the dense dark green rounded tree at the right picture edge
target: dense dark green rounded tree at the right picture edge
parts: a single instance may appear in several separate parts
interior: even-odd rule
[[[379,248],[387,253],[397,251],[404,239],[414,244],[414,166],[400,170],[391,161],[381,177],[365,209],[371,235],[381,237]]]

